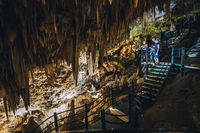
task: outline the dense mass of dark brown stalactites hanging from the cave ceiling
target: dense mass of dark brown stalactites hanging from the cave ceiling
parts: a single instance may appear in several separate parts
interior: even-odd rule
[[[4,77],[1,77],[0,81],[5,84],[9,109],[15,111],[20,96],[28,109],[30,68],[45,67],[57,60],[66,60],[68,64],[72,64],[77,84],[80,50],[90,47],[88,53],[91,53],[94,70],[97,62],[99,66],[103,64],[107,46],[112,44],[113,40],[123,39],[126,29],[134,19],[142,17],[145,11],[156,5],[162,9],[163,4],[166,4],[166,1],[3,2],[0,10],[0,70]],[[47,73],[52,71],[51,67],[46,67],[46,70]]]

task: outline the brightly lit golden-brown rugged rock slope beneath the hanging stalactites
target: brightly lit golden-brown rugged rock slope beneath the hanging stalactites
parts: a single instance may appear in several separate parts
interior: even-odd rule
[[[123,44],[124,45],[124,44]],[[126,48],[123,48],[123,47]],[[75,100],[75,107],[82,106],[85,103],[89,103],[97,98],[99,98],[94,105],[91,105],[91,111],[88,115],[93,114],[95,111],[100,110],[100,107],[105,108],[110,103],[109,99],[106,99],[103,103],[99,104],[93,108],[97,103],[101,101],[104,97],[104,93],[110,93],[111,89],[122,89],[127,88],[128,84],[131,84],[132,80],[136,78],[136,66],[135,66],[135,54],[134,47],[129,45],[124,45],[119,50],[119,47],[111,49],[105,56],[105,66],[108,68],[100,68],[99,71],[95,71],[93,75],[87,76],[87,65],[84,59],[81,62],[80,72],[79,72],[79,83],[75,87],[71,67],[67,64],[60,64],[57,69],[54,67],[50,69],[49,72],[45,73],[44,70],[36,70],[32,74],[32,78],[29,82],[30,94],[31,94],[31,107],[29,112],[32,116],[36,117],[34,120],[40,123],[42,120],[53,115],[54,112],[61,112],[68,110],[70,108],[69,103],[72,99]],[[126,50],[128,49],[128,50]],[[117,52],[116,52],[117,51]],[[116,53],[111,57],[112,53]],[[111,58],[110,58],[111,57]],[[134,75],[134,76],[133,76]],[[1,104],[0,104],[1,105]],[[0,106],[1,107],[1,106]],[[4,109],[2,108],[2,111]],[[75,113],[84,111],[84,108],[76,110]],[[24,114],[27,112],[21,105],[16,115],[24,118]],[[95,113],[96,115],[90,116],[89,121],[96,118],[100,112]],[[5,115],[2,112],[0,114],[0,133],[10,133],[13,129],[22,127],[22,121],[13,122],[17,119],[13,114],[10,115],[10,122],[6,122]],[[59,115],[58,118],[63,118],[69,114]],[[81,121],[75,125],[81,125],[84,122],[84,114],[80,115]],[[53,120],[53,119],[52,119]],[[50,121],[52,121],[50,120]],[[48,124],[50,121],[46,122]],[[67,121],[65,120],[65,125]],[[19,125],[18,125],[19,124]],[[61,122],[64,124],[64,122]],[[51,127],[48,127],[49,130]],[[63,129],[74,129],[73,126],[64,127]],[[6,131],[5,131],[6,130]]]

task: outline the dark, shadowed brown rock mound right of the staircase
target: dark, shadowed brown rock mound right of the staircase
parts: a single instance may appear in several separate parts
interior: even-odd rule
[[[200,129],[200,72],[188,71],[167,81],[155,106],[140,118],[143,128]]]

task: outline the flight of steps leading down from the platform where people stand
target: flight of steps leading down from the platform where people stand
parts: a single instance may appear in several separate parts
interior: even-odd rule
[[[170,70],[171,63],[168,62],[160,62],[158,65],[148,68],[148,72],[144,75],[144,84],[139,96],[142,99],[150,100],[152,103],[155,102]]]

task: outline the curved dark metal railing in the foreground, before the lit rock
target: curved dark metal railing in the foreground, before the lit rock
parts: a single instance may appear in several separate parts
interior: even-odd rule
[[[126,91],[124,91],[126,90]],[[80,129],[85,129],[88,130],[90,125],[93,125],[94,123],[96,123],[97,121],[101,120],[101,114],[102,114],[102,110],[106,111],[108,108],[113,107],[116,105],[117,102],[117,98],[123,94],[128,95],[130,93],[129,90],[124,89],[122,90],[122,92],[120,93],[117,90],[113,90],[111,89],[109,92],[105,92],[104,94],[102,94],[102,97],[99,97],[97,99],[95,99],[94,101],[76,107],[74,108],[74,110],[76,111],[75,114],[73,115],[66,115],[65,117],[62,117],[61,115],[63,114],[67,114],[69,113],[72,109],[69,109],[67,111],[63,111],[63,112],[59,112],[59,113],[54,113],[52,116],[50,116],[49,118],[45,119],[42,123],[40,123],[35,129],[33,129],[31,131],[31,133],[34,133],[37,129],[42,128],[42,131],[40,133],[43,132],[58,132],[59,129],[65,124],[64,120],[69,119],[69,118],[75,118],[73,121],[70,121],[69,123],[67,123],[68,125],[75,125],[77,130]],[[131,107],[131,105],[130,105]],[[93,110],[95,108],[95,111]],[[129,112],[129,115],[131,112]],[[53,121],[52,121],[53,119]],[[50,122],[48,122],[50,121]],[[79,123],[81,121],[81,125],[77,125],[77,123]],[[84,121],[84,122],[83,122]],[[45,123],[47,123],[46,125],[44,125]],[[73,128],[73,127],[72,127]],[[69,129],[72,130],[72,129]],[[75,130],[75,129],[73,129]]]

